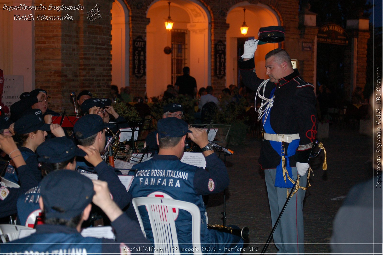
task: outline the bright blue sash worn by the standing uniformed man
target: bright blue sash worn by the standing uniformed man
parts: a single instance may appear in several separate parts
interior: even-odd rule
[[[275,88],[271,91],[270,97],[272,98],[275,92]],[[265,122],[266,118],[266,122]],[[270,117],[267,118],[266,115],[264,115],[262,119],[262,123],[264,124],[264,130],[266,133],[269,134],[276,134],[273,130],[273,128],[270,125]],[[295,139],[291,141],[291,143],[288,145],[287,151],[285,150],[285,166],[288,172],[288,176],[290,176],[291,179],[295,181],[296,177],[293,176],[293,173],[291,172],[291,166],[290,166],[290,160],[289,157],[295,155],[295,150],[299,146],[299,141],[300,139]],[[277,173],[275,174],[275,183],[274,186],[278,188],[293,188],[293,184],[291,181],[288,179],[288,176],[286,177],[286,182],[285,179],[283,178],[283,169],[282,169],[282,142],[279,141],[269,141],[271,146],[277,153],[281,156],[281,160],[279,165],[277,166]],[[285,173],[286,174],[286,173]]]

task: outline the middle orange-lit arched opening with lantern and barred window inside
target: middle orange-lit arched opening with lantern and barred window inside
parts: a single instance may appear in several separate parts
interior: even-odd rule
[[[190,0],[172,0],[170,16],[172,31],[165,30],[169,15],[168,1],[153,2],[148,8],[150,23],[146,27],[146,91],[148,97],[164,93],[168,84],[174,84],[182,75],[184,66],[190,67],[197,87],[210,85],[210,15],[201,3]],[[169,46],[172,53],[165,54]]]

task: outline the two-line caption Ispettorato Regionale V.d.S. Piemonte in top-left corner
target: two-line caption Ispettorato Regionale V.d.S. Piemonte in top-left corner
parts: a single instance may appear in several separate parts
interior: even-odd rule
[[[74,6],[69,6],[69,5],[25,5],[25,4],[20,4],[20,5],[3,5],[3,10],[7,10],[9,12],[13,10],[54,10],[57,12],[61,12],[62,10],[84,10],[83,5],[74,5]],[[38,15],[13,15],[14,20],[73,20],[74,17],[70,16],[69,14],[65,16],[46,16],[44,14],[38,14]]]

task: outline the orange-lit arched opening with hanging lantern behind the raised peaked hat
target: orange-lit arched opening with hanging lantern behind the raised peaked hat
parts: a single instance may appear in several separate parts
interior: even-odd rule
[[[239,28],[243,23],[243,8],[246,8],[246,24],[249,26],[247,35],[243,36]],[[265,26],[279,26],[277,14],[267,5],[258,3],[250,5],[247,2],[234,5],[228,12],[226,23],[230,25],[226,32],[226,86],[239,84],[237,59],[243,51],[243,44],[248,39],[258,39],[259,28]],[[278,43],[259,45],[254,54],[255,70],[260,78],[268,78],[265,74],[265,55],[278,48]]]

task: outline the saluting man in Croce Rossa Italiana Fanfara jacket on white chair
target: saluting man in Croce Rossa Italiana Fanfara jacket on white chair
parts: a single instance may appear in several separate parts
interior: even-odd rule
[[[202,246],[215,247],[209,249],[210,251],[207,253],[223,253],[228,250],[228,253],[231,251],[240,253],[243,246],[241,237],[208,229],[206,225],[206,208],[202,196],[221,192],[229,185],[228,171],[214,153],[206,131],[201,128],[188,128],[188,124],[178,118],[160,119],[157,128],[159,153],[154,155],[151,160],[135,165],[137,171],[129,192],[133,197],[163,196],[195,204],[201,212]],[[203,150],[206,168],[209,171],[180,161],[186,135]],[[160,169],[166,173],[159,177],[157,173],[162,171]],[[147,172],[149,177],[143,176],[144,172]],[[153,242],[151,225],[145,207],[139,207],[139,211],[144,222],[146,237]],[[191,248],[190,214],[179,210],[175,225],[180,248]]]

